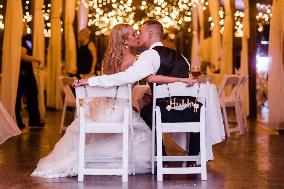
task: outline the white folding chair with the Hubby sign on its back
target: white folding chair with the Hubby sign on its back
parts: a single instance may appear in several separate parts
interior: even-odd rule
[[[154,172],[154,161],[157,161],[157,180],[163,180],[163,174],[196,174],[201,173],[201,180],[207,180],[206,171],[206,147],[205,147],[205,110],[206,101],[208,99],[209,82],[205,85],[195,84],[193,87],[186,87],[185,83],[170,83],[168,84],[169,91],[172,97],[174,96],[191,96],[198,97],[198,101],[204,104],[200,111],[200,122],[192,123],[162,123],[161,110],[159,106],[155,106],[156,99],[169,96],[169,91],[166,84],[153,87],[153,125],[152,125],[152,173]],[[198,92],[199,89],[199,92]],[[156,143],[157,156],[155,153],[155,113],[156,113]],[[200,133],[200,155],[198,156],[162,156],[162,133]],[[201,167],[167,167],[163,168],[163,161],[201,161]]]

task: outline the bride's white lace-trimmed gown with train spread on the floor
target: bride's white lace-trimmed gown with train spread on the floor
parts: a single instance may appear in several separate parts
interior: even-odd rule
[[[96,100],[114,104],[114,98],[93,98]],[[118,108],[111,114],[111,108],[105,110],[91,109],[90,116],[85,115],[86,123],[122,123],[124,108],[128,106],[128,100],[117,99]],[[134,146],[135,146],[135,171],[136,173],[151,172],[151,130],[143,119],[133,111]],[[129,132],[130,139],[130,132]],[[129,140],[130,141],[130,140]],[[131,146],[129,142],[129,157]],[[42,158],[31,174],[35,177],[59,178],[78,175],[79,134],[77,119],[67,128],[64,136],[57,142],[50,154]],[[122,133],[93,133],[86,134],[85,156],[93,157],[118,157],[122,158]],[[120,168],[122,163],[87,163],[87,168]],[[132,174],[131,162],[128,163],[128,174]]]

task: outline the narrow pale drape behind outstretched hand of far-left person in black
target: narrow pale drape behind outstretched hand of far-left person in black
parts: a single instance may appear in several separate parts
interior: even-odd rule
[[[33,15],[33,56],[41,60],[40,68],[44,66],[44,20],[42,16],[42,6],[44,0],[34,1],[34,15]],[[37,63],[36,63],[37,66]],[[36,68],[34,68],[35,70]],[[45,105],[44,105],[44,70],[41,74],[35,74],[36,84],[38,86],[38,109],[41,115],[41,119],[45,117]]]

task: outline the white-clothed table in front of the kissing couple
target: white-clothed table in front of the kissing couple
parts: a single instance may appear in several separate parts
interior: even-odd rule
[[[142,100],[144,93],[151,94],[149,85],[137,85],[132,91],[132,103],[141,111],[146,102]],[[225,140],[224,124],[219,104],[217,89],[209,84],[209,98],[205,113],[206,161],[213,160],[212,145]],[[171,133],[172,139],[188,154],[189,133]]]

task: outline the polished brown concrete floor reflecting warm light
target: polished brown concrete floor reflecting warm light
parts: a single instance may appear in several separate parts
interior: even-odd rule
[[[70,113],[69,113],[70,114]],[[67,116],[68,117],[68,116]],[[70,114],[71,118],[72,115]],[[207,162],[207,181],[201,175],[138,174],[122,183],[118,176],[85,176],[42,179],[31,177],[38,160],[45,157],[61,138],[61,112],[47,111],[44,128],[23,129],[20,136],[0,145],[0,188],[284,188],[284,134],[256,120],[248,120],[249,132],[213,146],[215,160]]]

